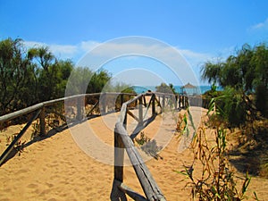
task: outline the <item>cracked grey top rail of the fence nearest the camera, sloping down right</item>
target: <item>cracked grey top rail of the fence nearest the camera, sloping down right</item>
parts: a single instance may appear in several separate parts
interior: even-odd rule
[[[138,180],[143,188],[144,193],[148,200],[161,200],[164,201],[163,193],[157,186],[151,173],[148,171],[146,164],[143,162],[141,156],[138,154],[133,141],[129,137],[127,131],[123,128],[120,122],[117,122],[115,128],[122,139],[124,147],[130,157],[130,162],[138,176]]]

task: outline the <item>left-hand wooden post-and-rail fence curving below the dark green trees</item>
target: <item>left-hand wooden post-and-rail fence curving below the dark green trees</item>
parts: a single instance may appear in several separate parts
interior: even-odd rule
[[[8,155],[13,151],[14,145],[24,135],[31,123],[38,119],[39,121],[39,136],[45,137],[47,131],[47,118],[49,114],[54,114],[60,117],[64,122],[79,122],[91,118],[96,114],[108,113],[108,106],[103,102],[107,96],[113,96],[114,105],[112,110],[119,111],[121,105],[136,94],[128,93],[96,93],[83,94],[77,96],[68,96],[51,101],[46,101],[37,105],[29,106],[14,113],[8,113],[0,116],[0,130],[7,127],[10,122],[15,121],[16,118],[29,119],[23,129],[15,136],[13,142],[4,150],[0,156],[0,165],[7,159]],[[111,99],[111,97],[110,97]],[[93,105],[86,110],[87,105]],[[111,108],[110,108],[111,110]],[[25,118],[29,116],[29,118]],[[58,125],[58,124],[57,124]],[[52,128],[53,129],[53,128]]]

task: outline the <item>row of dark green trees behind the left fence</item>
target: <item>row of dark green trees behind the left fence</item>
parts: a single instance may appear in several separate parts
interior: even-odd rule
[[[26,48],[21,39],[12,38],[0,41],[0,115],[63,97],[70,76],[72,95],[101,92],[112,77],[105,70],[94,72],[59,60],[46,46]],[[86,88],[80,88],[85,82]]]

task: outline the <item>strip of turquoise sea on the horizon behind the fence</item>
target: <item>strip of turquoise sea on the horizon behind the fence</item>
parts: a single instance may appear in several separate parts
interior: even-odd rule
[[[174,86],[175,92],[181,94],[181,93],[183,93],[185,91],[188,95],[193,95],[193,94],[194,95],[202,95],[206,91],[208,91],[208,90],[211,89],[211,86],[199,86],[196,89],[193,89],[193,88],[184,88],[183,91],[182,91],[181,87],[182,86]],[[134,86],[133,89],[135,90],[135,92],[137,94],[142,94],[144,92],[147,92],[148,90],[155,91],[156,90],[156,86],[143,86],[143,87]],[[216,90],[222,90],[222,88],[221,87],[217,87]]]

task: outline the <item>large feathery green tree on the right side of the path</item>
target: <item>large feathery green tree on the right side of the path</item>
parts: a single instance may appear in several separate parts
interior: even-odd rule
[[[247,44],[223,62],[205,63],[202,76],[224,89],[214,93],[230,125],[237,126],[250,119],[268,117],[268,47]]]

